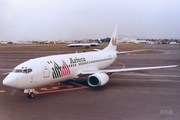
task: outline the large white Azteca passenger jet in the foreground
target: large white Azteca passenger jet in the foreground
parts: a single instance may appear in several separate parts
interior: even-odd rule
[[[116,25],[107,47],[92,52],[51,55],[25,61],[17,65],[3,80],[3,85],[24,90],[28,98],[34,98],[34,89],[67,80],[76,80],[88,76],[91,87],[100,87],[108,83],[109,75],[116,72],[171,68],[178,65],[105,69],[117,58],[118,54],[136,51],[117,51],[118,25]]]

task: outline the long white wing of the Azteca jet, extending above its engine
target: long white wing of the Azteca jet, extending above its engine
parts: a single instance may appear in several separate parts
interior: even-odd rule
[[[94,73],[116,73],[116,72],[129,72],[129,71],[138,71],[138,70],[149,70],[149,69],[160,69],[160,68],[171,68],[177,67],[178,65],[169,65],[169,66],[156,66],[156,67],[139,67],[139,68],[123,68],[123,69],[107,69],[107,70],[83,70],[79,73],[78,76],[91,75]]]

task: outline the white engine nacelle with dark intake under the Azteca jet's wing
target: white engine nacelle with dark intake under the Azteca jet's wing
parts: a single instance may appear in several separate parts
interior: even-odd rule
[[[91,87],[105,85],[109,81],[109,76],[105,73],[95,73],[88,77],[88,84]]]

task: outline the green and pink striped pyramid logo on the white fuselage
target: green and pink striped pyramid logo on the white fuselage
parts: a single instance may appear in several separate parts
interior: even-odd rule
[[[48,62],[48,63],[49,64],[54,63],[54,67],[52,68],[52,70],[53,70],[53,72],[52,72],[53,79],[64,77],[64,76],[67,76],[67,75],[71,74],[69,66],[63,60],[62,60],[62,66],[59,66],[54,61],[53,61],[53,63],[52,62]]]

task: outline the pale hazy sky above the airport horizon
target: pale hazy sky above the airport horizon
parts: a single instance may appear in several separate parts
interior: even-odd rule
[[[0,0],[0,41],[180,38],[180,0]]]

